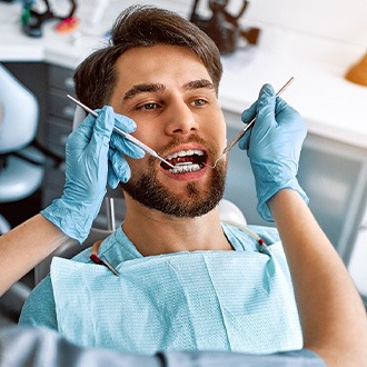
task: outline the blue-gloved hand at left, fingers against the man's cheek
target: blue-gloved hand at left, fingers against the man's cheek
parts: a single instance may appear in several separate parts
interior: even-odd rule
[[[132,132],[136,123],[113,113],[109,106],[88,115],[69,136],[66,148],[66,184],[61,198],[56,199],[41,214],[66,235],[80,244],[87,238],[106,194],[107,181],[116,188],[119,180],[130,178],[130,168],[120,153],[142,158],[141,148],[113,132],[116,123]]]

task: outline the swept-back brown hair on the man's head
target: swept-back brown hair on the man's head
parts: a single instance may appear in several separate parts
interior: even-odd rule
[[[208,70],[218,91],[222,67],[214,41],[197,26],[172,11],[132,6],[115,21],[110,44],[90,54],[77,68],[75,83],[78,98],[92,109],[108,103],[117,82],[117,59],[135,47],[158,43],[190,49]]]

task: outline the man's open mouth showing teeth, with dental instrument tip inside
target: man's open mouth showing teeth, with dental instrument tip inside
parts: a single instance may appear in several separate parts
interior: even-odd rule
[[[200,170],[206,162],[207,153],[200,149],[188,149],[168,155],[165,159],[175,168],[165,163],[161,163],[161,167],[170,173],[178,175]]]

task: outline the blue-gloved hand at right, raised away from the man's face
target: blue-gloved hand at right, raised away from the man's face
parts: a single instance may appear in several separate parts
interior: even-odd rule
[[[270,85],[265,85],[259,99],[242,112],[244,122],[256,121],[239,141],[247,150],[252,167],[258,197],[257,210],[262,219],[272,221],[267,201],[280,189],[299,192],[308,204],[296,175],[306,126],[300,115],[282,99],[276,97]]]

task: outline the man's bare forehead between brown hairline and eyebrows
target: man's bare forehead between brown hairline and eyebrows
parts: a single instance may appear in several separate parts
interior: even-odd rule
[[[117,85],[123,89],[147,82],[168,87],[184,85],[188,80],[207,79],[212,82],[201,60],[189,49],[179,46],[133,48],[119,57],[116,68]]]

